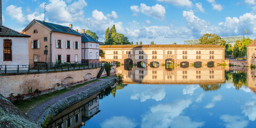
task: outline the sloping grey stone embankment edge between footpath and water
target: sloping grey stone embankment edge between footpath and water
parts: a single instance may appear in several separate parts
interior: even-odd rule
[[[59,100],[58,102],[54,103],[51,107],[49,107],[47,110],[44,111],[44,114],[38,119],[37,124],[39,125],[43,124],[46,117],[49,117],[49,116],[54,117],[57,114],[61,113],[61,110],[65,110],[66,108],[74,105],[75,103],[78,103],[86,98],[89,98],[91,95],[97,92],[105,90],[108,86],[112,86],[118,81],[119,79],[117,77],[114,77],[102,84],[95,85],[80,93],[76,93],[62,100]]]

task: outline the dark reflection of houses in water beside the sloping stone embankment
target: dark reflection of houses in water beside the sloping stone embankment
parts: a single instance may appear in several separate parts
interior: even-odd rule
[[[81,102],[63,110],[53,118],[49,127],[80,127],[82,122],[88,121],[93,115],[99,113],[99,98],[94,94]],[[86,103],[85,103],[86,102]]]

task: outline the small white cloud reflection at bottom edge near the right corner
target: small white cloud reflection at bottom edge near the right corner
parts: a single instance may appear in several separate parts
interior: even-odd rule
[[[226,123],[225,126],[227,128],[243,128],[247,127],[249,123],[242,116],[221,115],[220,119]]]

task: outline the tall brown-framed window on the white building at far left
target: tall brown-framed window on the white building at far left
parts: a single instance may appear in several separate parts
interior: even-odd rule
[[[12,41],[4,40],[4,61],[12,61]]]

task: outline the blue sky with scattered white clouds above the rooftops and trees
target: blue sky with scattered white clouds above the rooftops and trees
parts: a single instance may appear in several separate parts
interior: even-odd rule
[[[256,0],[3,0],[3,25],[21,31],[33,19],[89,29],[104,41],[108,27],[130,41],[183,44],[205,33],[256,37]]]

